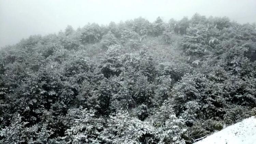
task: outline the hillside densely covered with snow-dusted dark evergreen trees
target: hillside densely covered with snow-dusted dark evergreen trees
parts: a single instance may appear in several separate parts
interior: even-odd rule
[[[256,25],[92,23],[0,50],[0,143],[191,144],[256,115]]]

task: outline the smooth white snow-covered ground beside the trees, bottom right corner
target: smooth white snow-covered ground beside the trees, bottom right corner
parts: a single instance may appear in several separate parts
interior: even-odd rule
[[[256,144],[256,117],[250,117],[194,144]]]

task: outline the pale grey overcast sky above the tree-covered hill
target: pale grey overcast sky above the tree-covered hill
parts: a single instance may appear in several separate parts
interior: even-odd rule
[[[33,34],[83,27],[88,22],[109,24],[142,16],[153,22],[180,20],[199,13],[228,16],[239,23],[256,22],[256,0],[0,0],[0,46]]]

